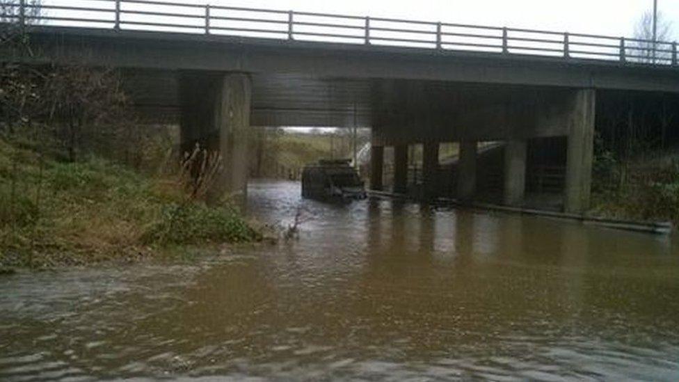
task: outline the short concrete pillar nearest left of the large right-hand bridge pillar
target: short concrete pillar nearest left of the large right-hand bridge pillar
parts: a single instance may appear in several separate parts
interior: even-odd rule
[[[525,140],[512,140],[504,148],[504,204],[520,206],[526,192]]]

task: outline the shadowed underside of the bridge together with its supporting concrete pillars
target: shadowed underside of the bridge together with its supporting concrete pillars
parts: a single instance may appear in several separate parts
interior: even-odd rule
[[[523,205],[533,157],[529,147],[555,138],[563,142],[557,145],[564,151],[557,166],[564,209],[581,212],[589,205],[592,89],[204,71],[135,70],[125,78],[142,116],[179,122],[184,151],[200,143],[221,152],[227,176],[219,186],[232,193],[246,191],[248,127],[358,126],[373,132],[372,189],[384,188],[384,149],[393,147],[393,191],[406,193],[408,145],[419,144],[424,148],[421,196],[471,202],[483,178],[477,173],[486,170],[477,165],[484,155],[479,142],[504,142],[500,201]],[[459,144],[458,157],[452,170],[442,170],[438,148],[450,142]],[[442,184],[448,184],[447,191]]]

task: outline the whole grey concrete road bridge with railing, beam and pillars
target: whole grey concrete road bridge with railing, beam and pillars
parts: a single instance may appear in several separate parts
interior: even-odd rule
[[[246,187],[248,127],[358,125],[373,130],[373,189],[384,186],[385,147],[393,147],[394,191],[404,192],[408,145],[424,145],[425,189],[433,189],[441,176],[439,144],[460,143],[454,196],[461,200],[476,195],[478,142],[506,141],[507,205],[524,200],[529,143],[560,138],[564,209],[581,212],[589,206],[598,98],[679,93],[677,47],[670,42],[104,3],[111,7],[42,6],[45,12],[33,16],[22,8],[17,19],[35,51],[26,59],[119,68],[149,120],[178,122],[184,148],[200,142],[221,151],[227,174],[221,186],[232,192]],[[86,11],[97,16],[79,16]]]

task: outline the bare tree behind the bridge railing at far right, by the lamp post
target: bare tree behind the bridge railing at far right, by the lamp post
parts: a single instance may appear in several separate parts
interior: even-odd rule
[[[627,55],[630,61],[639,63],[669,63],[672,44],[669,42],[672,25],[662,13],[657,14],[657,33],[653,40],[653,12],[639,17],[634,27],[634,40],[630,42]]]

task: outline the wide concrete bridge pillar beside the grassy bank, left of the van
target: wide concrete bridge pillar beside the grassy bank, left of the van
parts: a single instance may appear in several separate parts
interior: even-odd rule
[[[252,88],[242,73],[182,72],[179,78],[182,104],[182,151],[195,145],[218,152],[221,171],[209,190],[216,200],[225,193],[247,196],[248,129]]]

